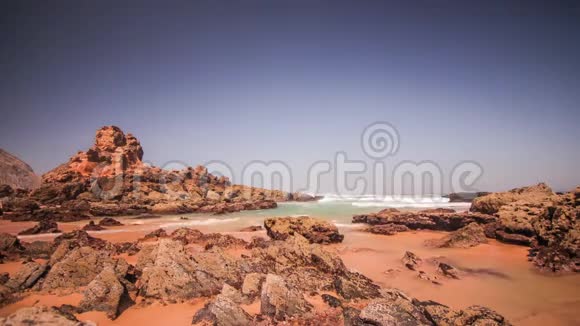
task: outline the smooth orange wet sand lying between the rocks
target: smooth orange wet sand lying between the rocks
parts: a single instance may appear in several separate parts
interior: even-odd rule
[[[127,223],[128,220],[122,220]],[[131,220],[132,221],[132,220]],[[59,223],[63,231],[79,229],[87,221]],[[136,224],[108,228],[105,232],[89,232],[92,236],[111,242],[134,241],[163,224],[160,220],[136,221]],[[0,230],[16,234],[34,225],[33,222],[0,221]],[[166,223],[165,223],[166,225]],[[167,231],[176,228],[166,227]],[[202,232],[223,232],[223,226],[191,226]],[[383,236],[361,232],[358,227],[341,227],[344,242],[329,245],[345,264],[359,271],[383,287],[399,288],[421,300],[434,300],[452,308],[470,305],[484,305],[506,316],[515,325],[580,325],[580,275],[544,275],[538,273],[527,261],[527,248],[490,240],[469,249],[438,249],[424,245],[425,240],[440,238],[444,232],[418,231]],[[265,231],[223,232],[250,240],[253,236],[266,237]],[[23,241],[51,240],[56,235],[21,236]],[[441,285],[421,280],[418,272],[406,269],[401,263],[405,251],[412,251],[423,259],[419,270],[437,276]],[[243,252],[228,252],[239,256]],[[136,256],[121,256],[129,263],[136,262]],[[450,263],[462,270],[459,280],[447,279],[435,271],[429,263],[433,258]],[[21,263],[0,264],[0,272],[14,273]],[[318,298],[311,298],[319,301]],[[60,305],[75,304],[80,295],[58,297],[54,295],[32,294],[19,302],[0,309],[0,316],[6,316],[18,308],[35,304]],[[118,319],[110,321],[104,313],[87,312],[80,314],[81,320],[91,320],[99,325],[155,325],[160,322],[171,325],[189,325],[197,310],[205,300],[193,300],[180,304],[149,306],[135,305],[124,311]],[[316,304],[319,306],[319,304]],[[324,304],[320,305],[321,308]],[[250,313],[259,311],[259,304],[243,307]]]

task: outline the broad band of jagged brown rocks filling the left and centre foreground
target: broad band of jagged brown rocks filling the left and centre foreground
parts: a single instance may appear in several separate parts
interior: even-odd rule
[[[82,300],[74,306],[20,309],[0,324],[54,320],[79,325],[76,318],[86,311],[115,319],[135,305],[205,298],[204,307],[191,312],[194,324],[509,325],[491,309],[453,310],[382,288],[349,270],[318,244],[328,243],[321,239],[342,241],[326,221],[267,221],[264,227],[273,238],[249,242],[189,228],[169,234],[157,230],[127,243],[110,243],[80,230],[42,245],[3,234],[2,249],[11,254],[6,259],[24,264],[17,273],[2,276],[2,304],[35,293],[80,293]],[[123,255],[135,256],[136,263],[129,264]],[[323,304],[314,305],[313,298]],[[259,306],[255,314],[243,309],[252,304]]]

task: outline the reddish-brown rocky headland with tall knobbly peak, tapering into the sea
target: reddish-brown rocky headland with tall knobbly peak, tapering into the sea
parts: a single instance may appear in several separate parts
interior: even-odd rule
[[[96,133],[94,145],[42,176],[33,191],[1,186],[3,219],[76,221],[95,216],[212,213],[276,207],[315,198],[233,185],[203,166],[163,170],[143,162],[143,148],[115,126]]]

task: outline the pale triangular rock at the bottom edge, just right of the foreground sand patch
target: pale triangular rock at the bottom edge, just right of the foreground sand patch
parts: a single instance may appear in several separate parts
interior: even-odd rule
[[[220,294],[193,317],[192,324],[203,321],[217,326],[250,325],[252,317],[227,296]]]

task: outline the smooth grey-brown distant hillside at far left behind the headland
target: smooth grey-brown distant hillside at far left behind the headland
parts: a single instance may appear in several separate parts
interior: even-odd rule
[[[40,185],[40,178],[28,164],[0,148],[0,185],[3,184],[13,189],[34,189]]]

